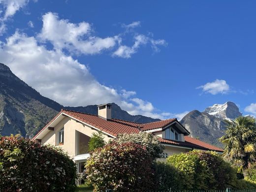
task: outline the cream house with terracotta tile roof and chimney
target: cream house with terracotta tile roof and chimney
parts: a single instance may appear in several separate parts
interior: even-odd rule
[[[177,119],[147,124],[112,119],[110,104],[98,105],[98,115],[63,109],[32,140],[63,148],[77,163],[79,172],[83,172],[84,163],[89,157],[88,142],[92,134],[98,131],[103,133],[105,141],[120,133],[147,131],[158,135],[165,146],[162,159],[193,149],[223,152],[218,147],[190,137],[190,132]]]

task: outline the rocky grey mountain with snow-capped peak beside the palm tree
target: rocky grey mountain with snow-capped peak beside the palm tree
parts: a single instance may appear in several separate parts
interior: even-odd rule
[[[222,147],[218,139],[224,135],[225,120],[239,116],[242,116],[239,108],[235,103],[228,101],[207,107],[203,112],[193,110],[181,120],[181,123],[191,132],[192,137]]]

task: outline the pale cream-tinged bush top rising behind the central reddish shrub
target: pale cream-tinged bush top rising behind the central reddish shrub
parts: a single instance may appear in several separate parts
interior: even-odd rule
[[[139,132],[132,134],[119,134],[117,139],[115,140],[117,143],[137,143],[146,148],[151,157],[160,158],[161,153],[163,152],[164,146],[158,140],[156,135],[147,132]]]

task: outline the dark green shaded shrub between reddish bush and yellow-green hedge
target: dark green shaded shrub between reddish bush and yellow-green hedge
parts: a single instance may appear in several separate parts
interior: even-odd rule
[[[182,189],[182,183],[180,181],[181,172],[174,166],[157,161],[155,162],[155,179],[158,186],[157,191],[167,192],[169,190],[178,191]]]

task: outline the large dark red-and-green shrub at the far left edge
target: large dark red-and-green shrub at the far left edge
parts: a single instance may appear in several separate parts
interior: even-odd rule
[[[60,148],[19,136],[0,138],[0,189],[4,192],[72,192],[76,166]]]

